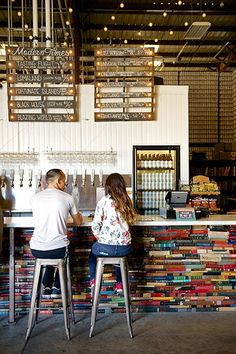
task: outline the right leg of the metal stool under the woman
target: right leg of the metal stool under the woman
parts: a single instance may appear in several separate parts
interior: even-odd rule
[[[133,338],[132,321],[131,321],[131,305],[130,305],[130,292],[129,292],[129,280],[128,280],[128,265],[126,259],[121,259],[121,277],[124,288],[125,309],[127,324],[129,329],[130,338]]]

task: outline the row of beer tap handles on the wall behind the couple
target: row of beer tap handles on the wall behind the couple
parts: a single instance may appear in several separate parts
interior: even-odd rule
[[[19,174],[19,186],[23,187],[24,178],[25,178],[25,170],[19,169],[18,174]],[[9,181],[10,181],[10,187],[12,187],[12,188],[14,188],[14,185],[15,185],[15,175],[16,175],[15,169],[10,169]],[[69,170],[65,171],[65,175],[66,175],[66,186],[68,186],[69,176],[70,176]],[[42,170],[38,170],[35,177],[36,177],[36,186],[37,186],[37,188],[40,188],[42,186],[42,177],[43,177]],[[77,177],[78,177],[77,170],[74,170],[73,174],[72,174],[72,185],[74,187],[78,187],[78,178]],[[82,171],[82,175],[81,175],[81,179],[82,179],[81,187],[85,187],[87,177],[88,177],[88,174],[87,174],[86,170],[84,169]],[[28,170],[28,186],[29,187],[33,186],[33,178],[34,178],[34,172],[32,169],[29,169]],[[98,179],[99,179],[99,187],[102,187],[103,186],[103,170],[99,171]],[[95,169],[92,169],[91,173],[90,173],[91,186],[94,186],[94,183],[95,183]],[[0,175],[0,188],[6,187],[6,184],[7,184],[7,171],[5,169],[2,169],[1,175]]]

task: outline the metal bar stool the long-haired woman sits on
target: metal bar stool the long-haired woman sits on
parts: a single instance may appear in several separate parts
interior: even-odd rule
[[[122,278],[123,289],[124,289],[127,324],[128,324],[130,338],[133,338],[133,330],[131,324],[132,319],[131,319],[130,291],[129,291],[129,280],[128,280],[128,262],[127,262],[127,257],[119,257],[119,256],[118,257],[97,257],[97,267],[96,267],[89,337],[90,338],[92,337],[95,322],[96,322],[103,270],[106,264],[113,264],[113,265],[120,266],[121,278]]]

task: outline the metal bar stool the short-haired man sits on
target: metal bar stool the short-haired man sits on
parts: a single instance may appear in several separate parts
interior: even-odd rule
[[[74,309],[72,303],[69,258],[67,257],[66,260],[36,258],[28,327],[25,336],[26,341],[29,339],[29,336],[32,332],[35,323],[38,322],[38,315],[42,297],[42,279],[47,265],[57,267],[59,270],[62,307],[64,313],[65,330],[68,340],[70,340],[70,317],[73,323],[75,323]]]

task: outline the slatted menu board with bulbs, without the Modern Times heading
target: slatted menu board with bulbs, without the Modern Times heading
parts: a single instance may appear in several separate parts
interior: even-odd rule
[[[95,121],[154,119],[154,51],[95,51]]]

